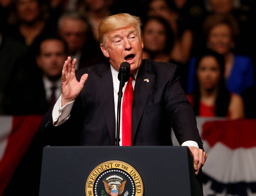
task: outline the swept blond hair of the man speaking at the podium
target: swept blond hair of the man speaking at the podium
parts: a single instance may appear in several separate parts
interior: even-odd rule
[[[106,41],[106,34],[111,31],[133,25],[141,39],[141,19],[137,16],[122,13],[108,16],[99,23],[99,43],[104,44]]]

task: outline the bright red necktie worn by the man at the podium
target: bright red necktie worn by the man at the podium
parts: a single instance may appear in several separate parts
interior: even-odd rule
[[[133,75],[130,76],[129,81],[124,90],[123,106],[122,106],[122,146],[131,145],[131,124],[132,124],[132,101],[133,101],[133,88],[132,80]]]

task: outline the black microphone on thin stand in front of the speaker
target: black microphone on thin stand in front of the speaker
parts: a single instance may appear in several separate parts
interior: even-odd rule
[[[115,145],[119,146],[120,142],[120,112],[121,112],[121,99],[123,97],[123,87],[130,78],[130,69],[131,65],[128,62],[123,62],[120,65],[119,73],[117,78],[119,79],[119,92],[118,92],[118,101],[117,101],[117,125],[116,125],[116,138]]]

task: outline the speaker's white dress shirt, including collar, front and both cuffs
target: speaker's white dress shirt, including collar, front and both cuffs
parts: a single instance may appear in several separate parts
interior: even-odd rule
[[[113,78],[113,87],[114,87],[114,102],[115,102],[115,119],[117,120],[117,102],[118,102],[118,90],[119,90],[119,80],[117,78],[118,76],[118,71],[114,69],[114,67],[111,65],[111,72],[112,72],[112,78]],[[133,74],[135,80],[132,80],[132,87],[134,90],[135,87],[135,81],[137,78],[137,73],[138,71]],[[123,93],[124,90],[126,88],[127,82],[124,84],[123,87]],[[54,105],[54,108],[52,110],[52,121],[53,123],[56,122],[59,118],[59,121],[56,125],[54,126],[58,126],[63,124],[64,122],[66,122],[69,117],[70,117],[70,111],[72,109],[72,106],[74,104],[74,101],[67,103],[65,106],[61,107],[61,96],[59,97],[59,99],[57,100],[56,104]],[[122,105],[123,105],[123,97],[121,100],[121,113],[120,113],[120,146],[122,146]],[[195,141],[185,141],[184,143],[182,143],[182,146],[194,146],[198,148],[198,144]]]

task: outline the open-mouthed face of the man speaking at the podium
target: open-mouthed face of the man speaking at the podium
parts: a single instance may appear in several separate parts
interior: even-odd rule
[[[126,61],[131,65],[131,74],[141,66],[142,48],[143,42],[133,25],[109,32],[101,44],[101,50],[112,66],[119,71],[120,64]]]

